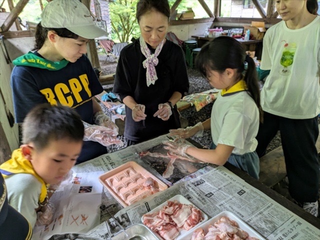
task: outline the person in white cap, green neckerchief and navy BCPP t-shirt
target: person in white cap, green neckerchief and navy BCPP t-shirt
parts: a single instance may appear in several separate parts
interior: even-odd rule
[[[51,1],[41,17],[36,26],[35,51],[13,60],[15,121],[22,122],[40,103],[70,106],[85,122],[86,137],[77,163],[107,153],[106,145],[118,143],[117,126],[94,99],[103,88],[85,56],[89,39],[106,32],[94,25],[90,11],[78,0]]]

